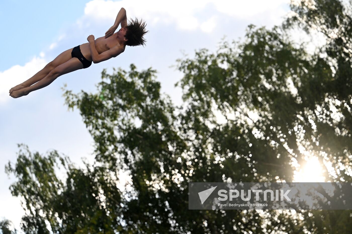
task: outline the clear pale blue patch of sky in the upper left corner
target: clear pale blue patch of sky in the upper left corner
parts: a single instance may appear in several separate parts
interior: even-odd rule
[[[14,64],[24,65],[34,54],[48,47],[62,29],[84,13],[82,6],[87,2],[1,1],[0,42],[1,53],[6,59],[2,57],[0,70]]]

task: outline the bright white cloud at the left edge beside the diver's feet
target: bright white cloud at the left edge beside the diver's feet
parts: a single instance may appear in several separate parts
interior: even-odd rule
[[[31,78],[48,62],[43,58],[34,57],[31,61],[24,66],[14,65],[9,69],[0,72],[0,103],[6,102],[12,97],[9,96],[8,91],[15,85],[18,85],[25,80]]]

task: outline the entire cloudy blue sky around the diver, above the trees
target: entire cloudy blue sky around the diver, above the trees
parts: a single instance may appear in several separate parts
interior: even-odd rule
[[[133,63],[138,70],[156,69],[162,92],[180,104],[181,92],[174,84],[182,74],[169,66],[183,57],[182,51],[189,57],[200,48],[215,52],[224,35],[227,41],[238,40],[247,25],[272,27],[289,11],[285,0],[270,1],[270,5],[254,0],[230,2],[0,1],[0,218],[5,216],[19,227],[24,215],[19,199],[8,189],[14,178],[8,178],[4,169],[8,161],[15,161],[18,143],[41,154],[56,149],[78,165],[82,157],[94,158],[93,140],[79,112],[68,111],[64,105],[60,89],[64,84],[74,92],[94,92],[104,68],[108,73],[112,67],[128,71]],[[65,74],[27,96],[8,96],[11,87],[33,76],[59,53],[86,43],[90,34],[104,36],[121,7],[128,18],[147,22],[146,47],[126,47],[116,58]]]

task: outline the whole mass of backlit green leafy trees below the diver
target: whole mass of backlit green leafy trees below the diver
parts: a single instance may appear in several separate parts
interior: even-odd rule
[[[339,1],[291,9],[296,14],[282,27],[250,25],[244,42],[223,40],[215,53],[178,59],[182,106],[160,93],[155,70],[133,64],[103,70],[94,93],[64,89],[94,139],[95,163],[77,168],[56,151],[42,156],[19,145],[6,170],[18,179],[12,194],[26,201],[24,232],[350,230],[349,210],[188,210],[190,181],[289,182],[309,156],[319,158],[327,180],[351,182],[350,13]],[[327,45],[308,54],[285,33],[295,24],[322,30]],[[118,189],[121,171],[131,176],[131,190]]]

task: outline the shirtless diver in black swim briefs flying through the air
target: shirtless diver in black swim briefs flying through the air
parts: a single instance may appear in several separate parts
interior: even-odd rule
[[[114,33],[121,24],[118,32]],[[51,84],[57,77],[63,74],[85,69],[93,63],[100,63],[110,58],[118,56],[125,51],[126,46],[145,45],[146,40],[143,35],[146,23],[130,19],[127,24],[125,8],[121,8],[117,14],[114,25],[105,33],[105,37],[94,39],[94,35],[89,35],[88,43],[70,48],[59,54],[54,60],[48,63],[42,70],[25,82],[10,89],[10,96],[13,98],[28,95],[30,92],[42,89]]]

